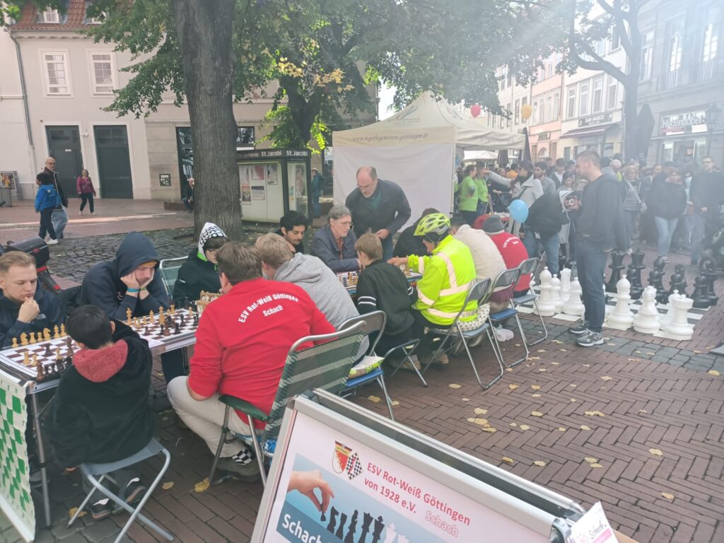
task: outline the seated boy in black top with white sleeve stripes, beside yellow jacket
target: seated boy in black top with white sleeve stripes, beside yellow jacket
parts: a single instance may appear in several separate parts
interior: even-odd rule
[[[357,279],[357,308],[360,313],[382,310],[387,315],[384,334],[379,338],[379,355],[413,339],[410,308],[417,300],[417,291],[408,285],[403,271],[382,260],[379,237],[368,232],[355,243],[360,263],[364,266]]]

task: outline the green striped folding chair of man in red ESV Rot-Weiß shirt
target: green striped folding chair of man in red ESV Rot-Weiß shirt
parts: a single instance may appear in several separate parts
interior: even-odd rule
[[[254,447],[261,472],[261,482],[266,485],[264,463],[274,456],[287,403],[293,397],[315,388],[327,390],[332,394],[342,392],[350,370],[354,366],[362,340],[366,337],[365,326],[364,322],[358,322],[353,327],[337,330],[332,334],[307,336],[296,341],[287,354],[282,379],[279,381],[277,395],[274,397],[274,403],[271,405],[269,413],[264,413],[255,405],[234,396],[219,397],[219,400],[226,404],[226,411],[224,412],[224,425],[219,439],[219,447],[216,448],[214,463],[211,464],[209,481],[216,482],[214,473],[216,464],[219,463],[224,441],[228,434],[233,434],[237,439]],[[324,343],[308,349],[300,349],[301,345],[321,341]],[[266,422],[266,426],[261,431],[251,432],[251,436],[232,432],[229,428],[229,416],[232,408],[246,415],[249,428],[254,428],[255,420]]]

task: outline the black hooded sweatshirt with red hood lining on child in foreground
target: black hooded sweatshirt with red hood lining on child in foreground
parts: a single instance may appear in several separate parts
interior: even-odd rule
[[[135,454],[153,437],[151,350],[116,321],[114,345],[75,353],[46,419],[55,459],[64,468]]]

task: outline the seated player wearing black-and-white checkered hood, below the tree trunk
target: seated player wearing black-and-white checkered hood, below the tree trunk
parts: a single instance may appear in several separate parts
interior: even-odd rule
[[[198,236],[198,247],[191,251],[187,261],[179,269],[174,283],[174,303],[188,306],[199,299],[202,290],[219,292],[222,284],[216,269],[216,251],[227,242],[224,231],[213,222],[207,222]]]

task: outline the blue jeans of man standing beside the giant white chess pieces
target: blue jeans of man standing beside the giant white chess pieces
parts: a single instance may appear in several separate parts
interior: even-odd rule
[[[606,315],[606,297],[603,293],[608,253],[593,247],[588,241],[576,239],[576,265],[581,284],[581,301],[586,312],[584,319],[589,330],[601,332]]]

